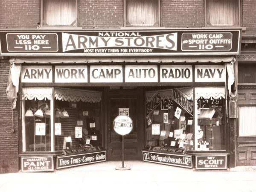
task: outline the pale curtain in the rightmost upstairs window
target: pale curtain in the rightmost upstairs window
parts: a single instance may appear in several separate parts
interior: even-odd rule
[[[207,0],[208,26],[239,26],[238,0]]]

